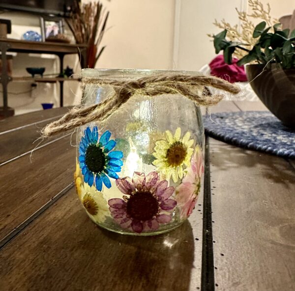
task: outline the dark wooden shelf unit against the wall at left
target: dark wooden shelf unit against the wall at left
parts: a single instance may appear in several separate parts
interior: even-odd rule
[[[86,44],[64,44],[55,42],[34,42],[25,40],[16,40],[9,38],[0,38],[0,52],[2,61],[2,72],[0,74],[0,82],[3,88],[3,115],[8,115],[8,96],[7,85],[10,81],[36,81],[36,82],[59,82],[59,102],[60,107],[63,106],[63,82],[68,80],[79,80],[78,78],[24,78],[10,77],[7,75],[7,52],[15,53],[49,53],[59,57],[60,74],[63,72],[63,57],[66,54],[77,53],[80,56],[81,68],[86,68]]]

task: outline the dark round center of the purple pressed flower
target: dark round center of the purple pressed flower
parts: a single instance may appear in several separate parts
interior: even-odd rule
[[[158,200],[148,191],[136,192],[127,202],[127,214],[134,219],[146,221],[157,214]]]

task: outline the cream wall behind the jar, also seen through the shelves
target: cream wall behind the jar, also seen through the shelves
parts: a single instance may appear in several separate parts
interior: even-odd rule
[[[82,2],[87,2],[83,0]],[[271,16],[280,18],[293,13],[294,0],[261,0],[270,4]],[[199,71],[215,56],[212,38],[220,28],[214,20],[225,19],[239,29],[236,13],[249,12],[247,0],[102,0],[109,18],[100,46],[106,46],[95,68],[147,68]],[[1,19],[9,19],[9,38],[21,39],[29,30],[40,32],[39,15],[3,10]],[[64,22],[64,32],[71,34]],[[46,67],[46,73],[59,72],[59,58],[47,54],[13,54],[13,76],[27,76],[26,67]],[[69,66],[80,74],[78,55],[66,55],[64,68]],[[59,106],[59,83],[10,82],[8,105],[15,114],[40,110],[42,102]],[[24,93],[22,93],[24,92]],[[13,93],[17,93],[13,94]],[[21,94],[18,94],[21,93]],[[79,104],[78,82],[64,82],[64,106]],[[2,98],[0,98],[1,106]]]

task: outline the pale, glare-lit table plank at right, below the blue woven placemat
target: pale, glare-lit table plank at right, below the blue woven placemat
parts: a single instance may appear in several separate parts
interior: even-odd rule
[[[210,139],[216,290],[295,290],[295,171]]]

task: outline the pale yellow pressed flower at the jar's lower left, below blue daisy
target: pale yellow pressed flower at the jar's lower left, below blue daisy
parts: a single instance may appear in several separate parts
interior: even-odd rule
[[[110,213],[103,194],[86,183],[81,185],[81,202],[95,222],[103,222]]]

